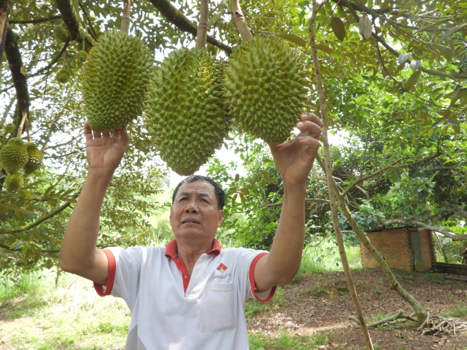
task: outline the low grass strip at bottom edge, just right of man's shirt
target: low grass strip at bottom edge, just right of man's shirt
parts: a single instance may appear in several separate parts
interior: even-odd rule
[[[249,333],[251,350],[317,349],[317,346],[328,344],[329,341],[328,336],[323,334],[315,334],[313,336],[292,336],[286,331],[282,331],[278,336],[265,336],[263,334]]]

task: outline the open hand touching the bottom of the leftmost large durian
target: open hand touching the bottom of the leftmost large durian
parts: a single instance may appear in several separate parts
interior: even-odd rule
[[[98,132],[91,130],[88,122],[84,124],[84,136],[86,137],[86,156],[91,168],[115,172],[126,151],[129,137],[126,128],[120,128],[110,132]]]

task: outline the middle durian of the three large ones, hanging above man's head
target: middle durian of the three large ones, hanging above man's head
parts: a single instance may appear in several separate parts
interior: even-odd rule
[[[161,159],[177,174],[196,172],[227,136],[221,78],[221,65],[209,52],[180,49],[152,79],[146,124]]]

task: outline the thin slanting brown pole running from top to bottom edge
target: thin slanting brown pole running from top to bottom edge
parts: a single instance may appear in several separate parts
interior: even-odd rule
[[[319,95],[319,108],[321,112],[321,120],[323,121],[323,152],[324,152],[324,165],[326,180],[328,180],[328,191],[329,191],[329,202],[331,207],[331,214],[332,214],[332,224],[334,226],[334,232],[336,234],[336,241],[337,246],[339,247],[339,254],[341,255],[342,267],[345,274],[345,279],[347,280],[347,285],[350,292],[350,297],[352,298],[352,302],[354,303],[355,312],[360,322],[360,329],[363,334],[363,339],[365,340],[365,345],[367,350],[373,350],[372,339],[369,337],[369,332],[367,325],[365,323],[365,317],[363,316],[363,311],[361,309],[360,301],[358,300],[358,295],[356,294],[354,281],[352,279],[352,274],[350,273],[349,263],[347,260],[347,255],[345,255],[345,247],[342,240],[341,235],[341,227],[339,224],[339,218],[337,216],[337,203],[336,197],[334,194],[334,180],[332,178],[332,169],[331,169],[331,161],[330,161],[330,152],[329,152],[329,141],[328,141],[328,118],[326,115],[326,101],[324,98],[324,89],[323,83],[321,82],[321,72],[319,69],[319,60],[317,49],[315,47],[315,19],[318,13],[319,8],[317,8],[316,0],[312,0],[312,14],[310,19],[308,20],[308,32],[310,34],[310,47],[313,57],[313,64],[315,65],[315,77],[316,77],[316,86]]]

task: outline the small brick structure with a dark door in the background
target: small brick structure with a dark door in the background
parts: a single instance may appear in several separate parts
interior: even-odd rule
[[[385,258],[391,268],[431,270],[436,262],[431,231],[418,231],[411,226],[367,232],[369,242]],[[376,268],[378,264],[367,248],[360,244],[362,266]]]

